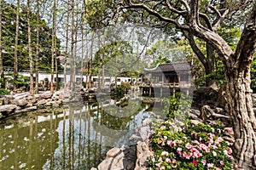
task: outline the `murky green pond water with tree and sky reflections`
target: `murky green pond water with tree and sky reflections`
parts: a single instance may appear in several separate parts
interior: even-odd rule
[[[0,169],[90,169],[150,116],[139,99],[73,104],[0,122]]]

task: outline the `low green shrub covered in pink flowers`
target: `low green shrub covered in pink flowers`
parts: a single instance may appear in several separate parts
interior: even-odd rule
[[[163,122],[152,141],[148,169],[232,169],[233,156],[224,141],[223,127],[190,122],[183,131],[173,131],[173,122]]]

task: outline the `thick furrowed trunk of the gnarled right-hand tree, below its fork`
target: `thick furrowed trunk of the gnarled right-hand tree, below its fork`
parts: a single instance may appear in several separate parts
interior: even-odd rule
[[[250,88],[250,63],[226,71],[227,100],[236,142],[233,146],[240,167],[256,166],[256,117]],[[253,164],[252,164],[253,163]]]

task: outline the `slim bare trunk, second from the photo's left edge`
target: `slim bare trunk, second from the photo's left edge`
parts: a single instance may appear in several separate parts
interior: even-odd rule
[[[19,39],[19,21],[20,21],[20,0],[17,0],[17,9],[16,9],[16,31],[15,31],[15,68],[14,68],[14,80],[17,80],[18,77],[18,39]],[[16,89],[15,84],[15,89]]]

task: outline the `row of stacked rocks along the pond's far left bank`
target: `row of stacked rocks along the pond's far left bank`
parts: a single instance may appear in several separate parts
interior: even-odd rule
[[[79,94],[79,95],[78,95]],[[19,115],[28,111],[37,111],[44,108],[58,108],[83,101],[80,92],[64,93],[62,90],[51,94],[44,91],[40,94],[29,94],[29,92],[0,96],[0,120],[9,116]]]

